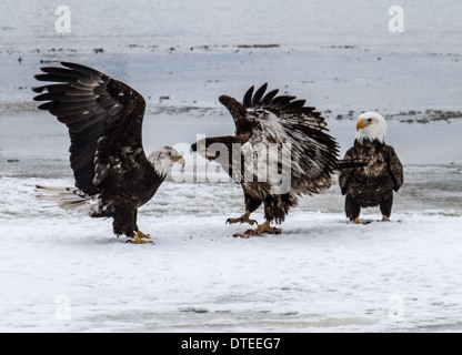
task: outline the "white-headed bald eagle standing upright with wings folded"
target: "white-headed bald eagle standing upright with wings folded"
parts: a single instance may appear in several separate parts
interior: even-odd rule
[[[386,122],[379,113],[365,112],[358,119],[356,139],[344,159],[361,159],[368,165],[343,170],[339,184],[345,197],[346,217],[359,223],[361,207],[380,206],[388,221],[393,205],[393,191],[403,184],[403,165],[394,149],[386,145]]]

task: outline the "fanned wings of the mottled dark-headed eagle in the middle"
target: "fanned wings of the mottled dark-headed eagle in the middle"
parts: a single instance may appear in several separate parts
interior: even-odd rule
[[[237,134],[250,132],[249,143],[255,145],[285,144],[290,162],[279,154],[279,166],[290,164],[291,187],[295,193],[319,193],[331,184],[331,174],[338,162],[337,141],[327,133],[327,123],[305,100],[279,95],[278,90],[267,93],[268,84],[254,92],[250,88],[239,103],[229,97],[220,101],[229,109],[237,125]],[[289,143],[289,144],[288,144]]]

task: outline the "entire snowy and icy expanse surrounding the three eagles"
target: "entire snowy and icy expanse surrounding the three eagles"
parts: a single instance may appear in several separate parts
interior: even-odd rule
[[[52,1],[2,3],[0,331],[462,331],[459,1],[406,1],[404,33],[379,1],[98,3],[68,1],[68,34]],[[125,244],[111,220],[37,199],[36,184],[73,184],[66,128],[31,101],[40,61],[56,60],[145,97],[148,153],[232,133],[218,97],[267,81],[319,108],[342,153],[358,114],[379,110],[405,165],[392,222],[369,209],[374,222],[348,223],[334,185],[283,234],[234,239],[240,186],[169,180],[140,209],[153,244]]]

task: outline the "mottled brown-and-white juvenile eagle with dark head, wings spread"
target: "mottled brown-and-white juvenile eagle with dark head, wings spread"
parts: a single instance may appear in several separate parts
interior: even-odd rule
[[[220,97],[234,120],[235,135],[207,138],[192,146],[204,158],[217,160],[242,185],[245,213],[228,219],[227,223],[253,225],[257,221],[251,220],[250,214],[264,205],[265,222],[251,234],[280,233],[270,225],[271,222],[280,224],[284,221],[289,210],[298,204],[299,196],[330,187],[333,171],[340,165],[355,166],[354,162],[339,162],[338,144],[327,133],[327,123],[314,108],[305,106],[304,100],[294,97],[278,97],[279,90],[267,93],[267,88],[268,84],[263,84],[255,92],[253,87],[250,88],[242,103],[228,95]],[[225,146],[227,156],[217,152],[218,143]],[[277,153],[271,153],[271,144],[278,148]],[[231,154],[235,151],[238,154]],[[247,164],[245,158],[252,158],[252,154],[265,155],[265,164],[260,164],[258,159],[253,164]],[[271,169],[271,164],[277,169]],[[261,171],[263,175],[267,173],[267,179],[257,176]],[[284,184],[283,178],[289,185]]]

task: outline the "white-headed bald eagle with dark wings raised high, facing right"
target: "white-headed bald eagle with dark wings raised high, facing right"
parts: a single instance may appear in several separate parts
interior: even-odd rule
[[[137,225],[138,209],[155,194],[168,168],[184,160],[170,146],[145,156],[142,146],[144,99],[133,89],[94,69],[61,62],[64,68],[41,68],[36,101],[69,129],[70,165],[77,199],[62,205],[93,205],[93,217],[112,217],[113,233],[133,243],[148,237]],[[90,203],[91,202],[91,203]]]

